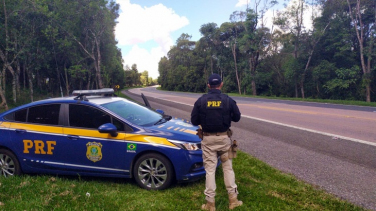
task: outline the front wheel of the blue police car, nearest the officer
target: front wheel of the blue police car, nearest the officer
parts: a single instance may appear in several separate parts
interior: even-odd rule
[[[142,155],[137,159],[133,176],[138,185],[147,190],[162,190],[169,187],[174,178],[171,162],[156,153]]]

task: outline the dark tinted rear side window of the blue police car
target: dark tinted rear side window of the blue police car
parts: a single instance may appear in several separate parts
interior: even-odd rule
[[[29,108],[29,113],[27,117],[27,122],[46,124],[46,125],[58,125],[59,124],[59,112],[60,104],[50,104],[34,106]],[[22,120],[23,114],[20,113],[20,119]],[[17,121],[18,114],[16,112],[15,119]]]

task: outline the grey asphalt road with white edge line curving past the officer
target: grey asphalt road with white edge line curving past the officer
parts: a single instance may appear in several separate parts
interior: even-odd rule
[[[132,93],[131,93],[132,92]],[[190,119],[200,94],[134,89],[126,95]],[[234,97],[240,149],[340,198],[376,210],[375,108]]]

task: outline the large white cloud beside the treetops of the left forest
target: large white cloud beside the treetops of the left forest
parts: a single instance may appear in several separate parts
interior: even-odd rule
[[[117,0],[117,3],[121,9],[115,30],[118,45],[134,46],[127,55],[123,55],[124,65],[137,64],[140,72],[147,70],[149,75],[157,78],[160,58],[167,55],[174,45],[171,33],[188,25],[189,20],[162,4],[141,7],[130,3],[130,0]],[[141,49],[135,46],[147,41],[154,41],[159,47]]]

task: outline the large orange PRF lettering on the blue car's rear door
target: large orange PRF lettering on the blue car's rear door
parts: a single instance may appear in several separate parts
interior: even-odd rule
[[[53,155],[53,150],[56,146],[56,141],[41,141],[41,140],[23,140],[24,142],[24,153],[29,154],[30,150],[34,149],[35,154],[47,154]]]

